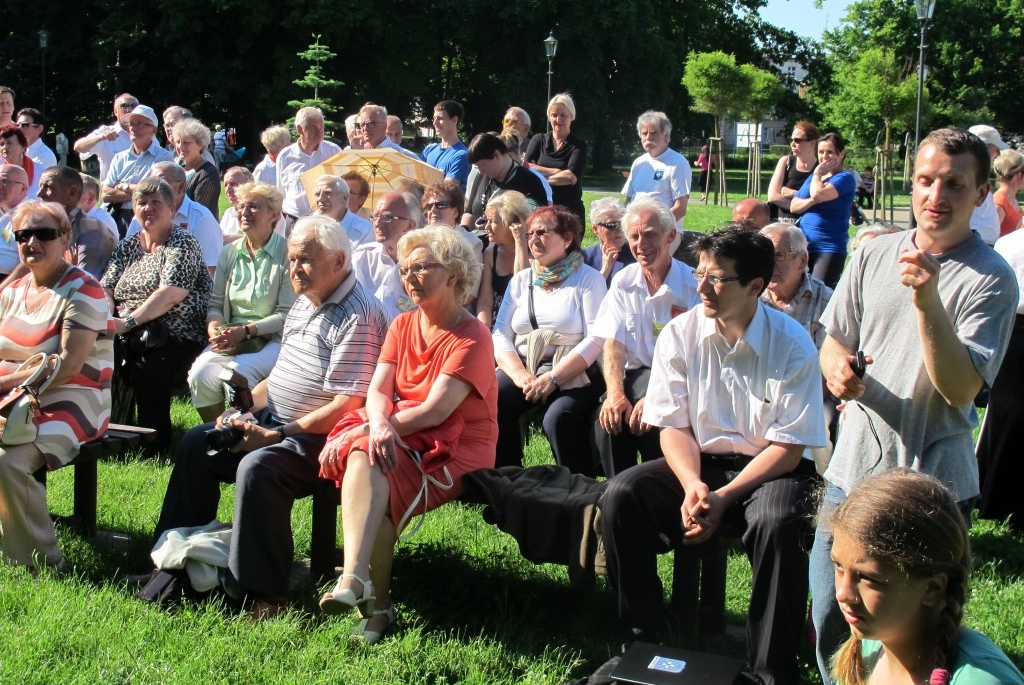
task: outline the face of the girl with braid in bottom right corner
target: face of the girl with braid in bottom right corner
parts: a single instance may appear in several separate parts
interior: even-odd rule
[[[887,641],[928,639],[933,579],[910,579],[894,565],[873,559],[852,536],[836,532],[836,601],[853,634]]]

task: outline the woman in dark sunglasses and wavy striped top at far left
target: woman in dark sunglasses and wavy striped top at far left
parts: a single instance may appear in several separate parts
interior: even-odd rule
[[[59,369],[39,395],[39,434],[28,444],[0,444],[0,550],[8,562],[62,567],[46,486],[33,473],[57,469],[82,442],[106,431],[114,347],[103,289],[65,261],[71,222],[59,205],[29,201],[11,227],[29,273],[0,293],[0,395],[31,375],[17,371],[37,352],[55,354]]]

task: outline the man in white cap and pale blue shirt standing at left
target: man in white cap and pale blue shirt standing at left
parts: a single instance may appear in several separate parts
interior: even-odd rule
[[[114,216],[119,232],[123,233],[133,218],[131,197],[138,182],[150,175],[154,164],[174,161],[174,155],[160,146],[157,126],[159,122],[153,108],[136,104],[128,115],[131,144],[114,156],[103,177],[103,202],[120,205]]]

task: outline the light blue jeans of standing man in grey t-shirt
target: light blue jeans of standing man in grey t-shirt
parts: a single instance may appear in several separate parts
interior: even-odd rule
[[[814,655],[818,661],[823,685],[831,685],[828,677],[831,655],[850,636],[850,629],[843,618],[836,601],[836,570],[831,561],[831,528],[823,523],[846,501],[846,493],[828,483],[825,497],[818,510],[818,525],[814,529],[811,546],[810,585],[811,623],[814,624]]]

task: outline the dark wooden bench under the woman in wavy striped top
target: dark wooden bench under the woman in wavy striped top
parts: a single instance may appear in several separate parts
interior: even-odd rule
[[[75,459],[65,466],[74,467],[74,514],[58,520],[78,530],[84,538],[96,534],[96,494],[98,476],[96,463],[108,457],[118,457],[127,449],[140,447],[157,439],[152,428],[111,424],[106,434],[85,442]],[[36,480],[46,484],[46,467],[36,471]]]

